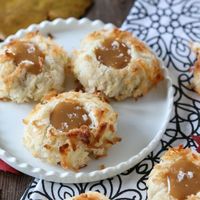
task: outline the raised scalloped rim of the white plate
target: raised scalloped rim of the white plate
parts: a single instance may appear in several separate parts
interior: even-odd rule
[[[32,24],[27,29],[21,29],[19,30],[15,35],[9,36],[4,43],[7,43],[13,38],[20,38],[27,32],[36,31],[43,29],[47,26],[56,26],[58,24],[65,24],[65,25],[71,25],[71,24],[90,24],[92,26],[103,26],[103,28],[114,28],[115,26],[111,23],[104,24],[100,20],[91,21],[88,18],[82,18],[80,20],[77,20],[75,18],[68,18],[66,20],[64,19],[55,19],[54,21],[43,21],[40,24]],[[162,61],[161,61],[162,63]],[[162,65],[164,66],[164,65]],[[167,80],[167,87],[168,87],[168,93],[167,98],[169,100],[168,108],[167,108],[167,117],[166,117],[166,123],[162,127],[160,131],[156,134],[154,139],[145,147],[143,148],[137,155],[129,158],[126,162],[119,163],[118,165],[114,167],[107,167],[103,170],[96,170],[89,173],[85,172],[64,172],[64,173],[58,173],[55,171],[46,171],[41,168],[35,168],[28,163],[22,163],[17,158],[13,157],[9,152],[6,152],[4,149],[0,147],[0,158],[11,165],[12,167],[16,168],[19,171],[23,171],[26,174],[29,174],[33,177],[37,178],[43,178],[47,181],[51,181],[52,177],[54,177],[55,182],[62,182],[62,183],[83,183],[83,182],[92,182],[97,180],[102,180],[105,178],[109,178],[112,176],[115,176],[117,174],[120,174],[131,167],[133,167],[135,164],[140,162],[142,159],[144,159],[157,145],[157,143],[160,141],[164,131],[166,130],[167,124],[170,120],[170,114],[173,106],[173,87],[172,87],[172,81],[169,77],[169,73],[165,67],[163,67],[164,76]]]

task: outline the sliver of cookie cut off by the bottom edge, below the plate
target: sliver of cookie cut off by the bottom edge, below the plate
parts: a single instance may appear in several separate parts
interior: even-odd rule
[[[86,192],[66,200],[109,200],[106,196],[99,192]]]

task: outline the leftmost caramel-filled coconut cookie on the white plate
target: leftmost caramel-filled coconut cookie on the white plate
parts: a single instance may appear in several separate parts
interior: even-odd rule
[[[0,50],[0,98],[21,103],[63,91],[67,63],[66,52],[37,32],[10,41]]]

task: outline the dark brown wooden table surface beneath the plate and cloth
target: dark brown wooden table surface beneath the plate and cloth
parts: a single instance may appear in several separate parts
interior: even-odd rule
[[[94,0],[86,17],[91,20],[100,19],[121,26],[129,13],[133,0]],[[0,200],[18,200],[33,178],[25,174],[13,175],[0,172]]]

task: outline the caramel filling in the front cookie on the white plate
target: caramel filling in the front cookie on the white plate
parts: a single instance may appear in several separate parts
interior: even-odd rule
[[[91,119],[87,112],[77,102],[61,102],[57,104],[50,115],[50,123],[59,131],[67,132],[70,129],[89,126]]]

